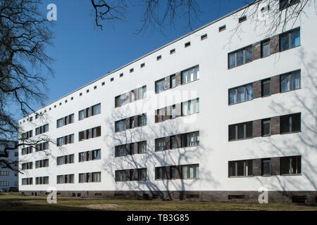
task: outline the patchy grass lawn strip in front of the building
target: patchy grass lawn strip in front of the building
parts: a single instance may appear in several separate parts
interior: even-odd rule
[[[58,197],[56,204],[48,204],[46,197],[1,193],[2,211],[316,211],[316,206],[295,204],[209,203],[161,200],[108,200]]]

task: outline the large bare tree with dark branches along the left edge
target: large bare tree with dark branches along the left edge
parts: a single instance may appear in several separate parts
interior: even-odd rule
[[[52,59],[46,54],[51,44],[51,22],[39,13],[39,0],[0,1],[0,137],[17,140],[24,131],[16,116],[31,112],[32,103],[43,104],[46,99],[46,75],[53,75]],[[13,109],[18,108],[18,115]],[[39,115],[42,117],[42,115]],[[18,146],[32,146],[50,141],[46,136],[32,140],[20,139],[14,146],[3,145],[0,153],[2,167],[13,168],[8,151]]]

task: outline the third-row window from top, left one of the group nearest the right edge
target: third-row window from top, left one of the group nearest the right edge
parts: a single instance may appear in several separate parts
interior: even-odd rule
[[[229,141],[249,139],[253,136],[253,122],[229,125]]]

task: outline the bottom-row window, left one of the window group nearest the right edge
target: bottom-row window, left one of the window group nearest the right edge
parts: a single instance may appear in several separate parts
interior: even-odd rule
[[[252,176],[253,161],[239,160],[229,162],[230,176]]]

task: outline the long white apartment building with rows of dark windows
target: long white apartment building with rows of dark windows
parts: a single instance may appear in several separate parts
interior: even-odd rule
[[[19,149],[20,191],[315,204],[317,15],[269,35],[298,1],[266,2],[20,119],[24,140],[51,140]]]

